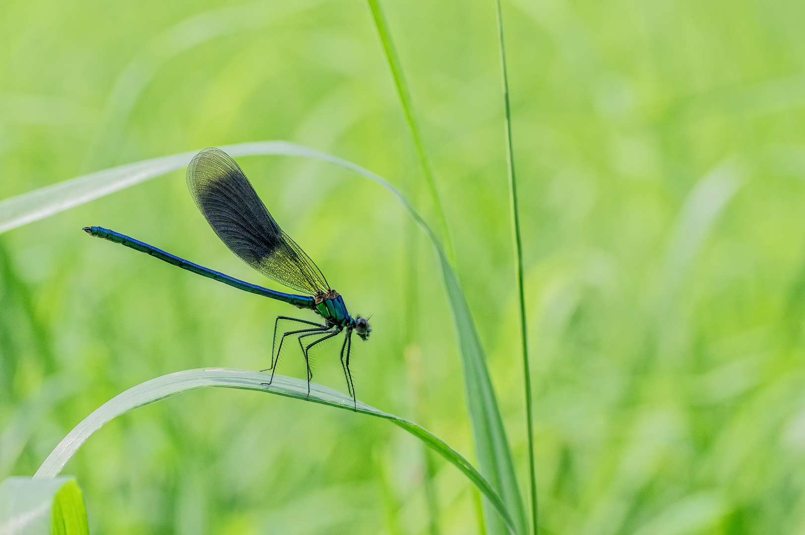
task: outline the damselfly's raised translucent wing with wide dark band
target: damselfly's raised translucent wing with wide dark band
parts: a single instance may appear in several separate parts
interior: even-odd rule
[[[223,150],[210,147],[196,154],[187,179],[209,226],[246,264],[306,294],[330,290],[316,264],[283,233],[249,179]]]

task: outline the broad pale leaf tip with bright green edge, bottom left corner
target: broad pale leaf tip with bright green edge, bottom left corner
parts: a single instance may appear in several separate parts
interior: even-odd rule
[[[0,535],[89,535],[75,479],[10,477],[0,484]]]

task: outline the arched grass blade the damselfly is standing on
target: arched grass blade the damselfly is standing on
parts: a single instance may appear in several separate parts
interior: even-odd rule
[[[39,467],[34,475],[35,479],[51,479],[59,475],[64,465],[78,451],[87,438],[95,431],[101,429],[106,422],[113,418],[125,414],[132,409],[148,405],[154,401],[159,401],[170,397],[176,393],[187,390],[200,389],[205,386],[221,386],[233,389],[257,390],[258,392],[275,393],[285,397],[295,397],[305,399],[308,396],[308,383],[293,377],[283,377],[275,375],[271,385],[266,384],[268,376],[262,372],[251,372],[249,370],[225,369],[225,368],[205,368],[186,370],[184,372],[171,373],[162,377],[151,379],[141,385],[126,390],[126,392],[107,401],[104,405],[90,414],[83,422],[78,424],[75,429],[62,440],[51,455],[47,456],[45,462]],[[310,401],[329,405],[338,409],[353,410],[353,398],[347,397],[336,390],[328,389],[322,385],[311,384]],[[449,447],[441,438],[438,438],[430,431],[423,429],[413,422],[408,422],[394,414],[384,413],[382,410],[375,409],[365,403],[357,402],[357,412],[369,414],[378,418],[384,418],[402,427],[416,438],[422,440],[428,447],[431,447],[439,455],[452,463],[460,471],[464,472],[470,481],[476,485],[484,496],[494,504],[500,512],[506,524],[510,526],[511,533],[514,533],[514,525],[511,521],[506,505],[503,504],[500,496],[494,488],[484,479],[484,477],[464,459],[457,451]]]

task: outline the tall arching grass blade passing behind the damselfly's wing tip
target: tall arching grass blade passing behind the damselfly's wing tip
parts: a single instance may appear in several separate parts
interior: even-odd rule
[[[489,377],[489,369],[486,367],[484,348],[478,338],[473,316],[469,311],[467,300],[464,298],[460,282],[452,270],[436,233],[427,226],[422,216],[386,179],[344,159],[283,141],[238,143],[220,148],[233,157],[258,154],[303,156],[316,158],[352,171],[366,179],[373,180],[390,191],[414,218],[419,228],[431,238],[440,261],[444,286],[448,292],[448,301],[456,325],[464,368],[464,390],[469,405],[478,464],[485,479],[500,493],[507,510],[514,519],[517,533],[526,533],[526,513],[514,473],[514,461],[506,439],[506,430],[497,407],[497,397],[495,397],[492,380]],[[168,171],[185,167],[194,154],[196,151],[130,163],[3,200],[0,202],[0,232],[52,216],[67,208],[163,175]]]

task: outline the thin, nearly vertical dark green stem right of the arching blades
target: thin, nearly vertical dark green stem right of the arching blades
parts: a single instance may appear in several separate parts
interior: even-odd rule
[[[534,533],[537,533],[537,479],[534,461],[534,415],[531,411],[531,373],[528,362],[528,329],[526,323],[526,295],[522,284],[522,240],[520,238],[520,213],[517,204],[517,180],[514,175],[514,145],[511,137],[511,106],[509,103],[509,76],[506,72],[506,47],[503,43],[503,12],[501,0],[497,5],[497,35],[500,38],[501,67],[503,75],[503,103],[506,109],[506,167],[509,174],[509,199],[511,203],[511,224],[514,233],[514,262],[517,271],[517,288],[520,297],[520,339],[522,342],[522,374],[526,389],[526,429],[528,431],[528,467],[531,485],[531,519]]]

